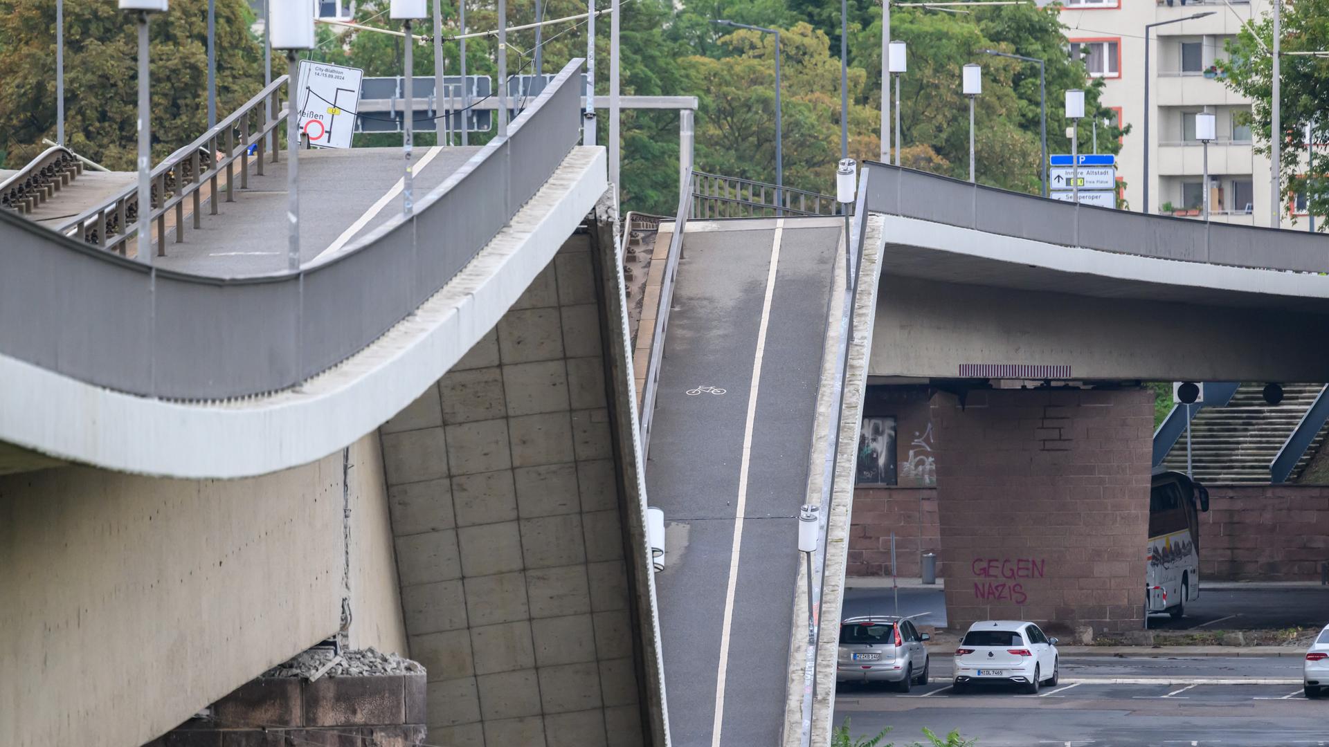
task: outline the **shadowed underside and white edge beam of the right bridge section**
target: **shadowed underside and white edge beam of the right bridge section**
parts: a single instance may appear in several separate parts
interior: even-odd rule
[[[1329,278],[885,218],[869,374],[1322,381]]]

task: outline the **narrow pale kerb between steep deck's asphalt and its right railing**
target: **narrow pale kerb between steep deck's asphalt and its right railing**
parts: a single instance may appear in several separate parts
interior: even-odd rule
[[[821,347],[821,371],[817,388],[817,408],[812,421],[812,448],[808,453],[808,485],[804,502],[821,506],[825,492],[827,468],[831,461],[829,433],[835,429],[832,416],[836,412],[836,400],[840,395],[840,346],[844,334],[844,284],[839,280],[844,278],[845,253],[837,251],[835,287],[831,291],[831,303],[827,308],[827,335]],[[801,554],[801,553],[800,553]],[[823,580],[824,580],[823,568]],[[795,577],[793,615],[789,623],[789,653],[788,673],[784,691],[784,724],[780,743],[784,747],[799,747],[803,743],[803,734],[811,727],[807,706],[808,695],[812,690],[809,673],[816,671],[816,661],[808,658],[808,597],[807,597],[808,570],[803,558],[799,558],[799,570]]]

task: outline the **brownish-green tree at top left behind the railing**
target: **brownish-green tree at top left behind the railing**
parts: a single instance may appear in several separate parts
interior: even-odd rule
[[[243,0],[217,1],[217,110],[263,86],[262,49]],[[56,137],[54,3],[0,0],[0,133],[23,163]],[[105,0],[65,1],[65,138],[109,169],[137,152],[137,23]],[[207,0],[174,0],[152,21],[153,154],[165,157],[207,129]]]

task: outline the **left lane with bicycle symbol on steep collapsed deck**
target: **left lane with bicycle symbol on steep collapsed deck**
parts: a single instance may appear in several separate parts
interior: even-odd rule
[[[710,744],[743,431],[775,222],[724,221],[684,238],[664,338],[646,486],[664,512],[655,574],[675,744]],[[688,396],[712,385],[724,395]]]

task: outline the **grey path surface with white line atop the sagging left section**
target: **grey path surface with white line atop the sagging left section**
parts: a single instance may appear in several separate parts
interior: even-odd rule
[[[444,148],[424,167],[420,162],[429,148],[415,150],[416,202],[466,162],[477,150]],[[174,230],[166,238],[166,257],[155,263],[170,270],[237,278],[286,270],[287,193],[286,152],[280,161],[264,163],[259,177],[250,165],[249,189],[241,189],[235,166],[235,202],[226,202],[225,189],[218,215],[202,207],[202,227],[185,229],[185,241],[175,243]],[[308,262],[328,249],[369,207],[401,178],[399,148],[355,148],[348,150],[312,149],[300,152],[300,262]],[[80,177],[82,178],[82,177]],[[391,198],[355,237],[372,231],[401,211],[400,193]],[[185,225],[193,226],[185,217]],[[354,241],[354,239],[352,239]]]

